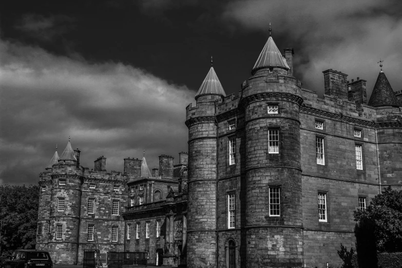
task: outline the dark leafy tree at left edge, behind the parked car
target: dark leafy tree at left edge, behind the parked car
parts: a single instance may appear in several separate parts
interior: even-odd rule
[[[0,256],[36,244],[39,186],[0,185]]]

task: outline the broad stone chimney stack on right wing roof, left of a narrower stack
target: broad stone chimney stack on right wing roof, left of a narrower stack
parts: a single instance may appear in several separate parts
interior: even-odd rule
[[[323,74],[325,94],[348,100],[346,81],[348,74],[332,69],[323,71]]]

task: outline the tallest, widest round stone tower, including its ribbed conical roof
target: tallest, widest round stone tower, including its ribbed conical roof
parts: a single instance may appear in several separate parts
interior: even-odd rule
[[[303,265],[298,81],[270,36],[243,88],[247,267]]]

